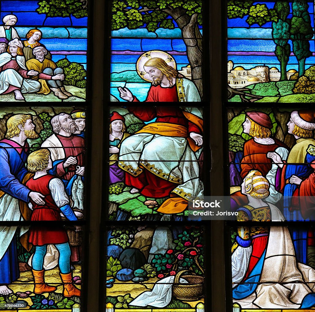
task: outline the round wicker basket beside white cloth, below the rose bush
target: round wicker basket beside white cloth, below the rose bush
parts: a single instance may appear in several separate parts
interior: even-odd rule
[[[197,275],[185,275],[183,278],[188,282],[188,284],[180,284],[180,277],[188,270],[179,271],[175,275],[174,285],[173,285],[173,295],[184,301],[195,301],[203,296],[203,277]]]

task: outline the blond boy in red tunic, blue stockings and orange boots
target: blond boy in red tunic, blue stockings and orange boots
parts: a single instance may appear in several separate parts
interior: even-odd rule
[[[26,186],[45,196],[45,205],[37,205],[31,201],[33,206],[32,221],[60,221],[60,212],[68,220],[77,221],[77,217],[69,206],[69,198],[65,187],[60,179],[47,174],[52,168],[52,160],[48,149],[40,149],[31,153],[27,158],[27,169],[35,172],[35,175],[27,181]],[[78,230],[79,227],[76,227]],[[65,297],[80,296],[79,289],[72,284],[70,272],[70,246],[65,229],[58,225],[51,227],[32,226],[30,228],[29,242],[36,246],[32,259],[32,272],[35,280],[34,293],[53,292],[56,287],[49,286],[44,282],[43,262],[47,245],[54,244],[59,250],[60,276],[64,284],[63,295]]]

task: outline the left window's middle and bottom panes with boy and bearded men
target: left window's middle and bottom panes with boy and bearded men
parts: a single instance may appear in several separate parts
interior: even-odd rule
[[[85,110],[0,108],[1,308],[80,306]]]

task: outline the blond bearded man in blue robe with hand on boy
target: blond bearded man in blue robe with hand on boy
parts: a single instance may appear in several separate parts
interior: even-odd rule
[[[32,199],[43,205],[44,195],[31,192],[25,185],[31,177],[26,170],[28,143],[27,138],[38,137],[34,130],[31,115],[18,114],[7,120],[5,139],[0,141],[0,221],[29,220],[30,213],[26,205]],[[11,284],[19,277],[16,236],[17,226],[0,227],[0,295],[9,295],[12,290],[5,284]],[[27,229],[20,228],[22,245],[29,250]]]

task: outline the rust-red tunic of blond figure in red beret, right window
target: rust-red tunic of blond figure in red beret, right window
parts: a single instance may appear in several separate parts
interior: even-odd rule
[[[267,158],[267,153],[274,152],[278,147],[285,147],[285,144],[277,139],[273,139],[274,144],[260,144],[250,139],[244,144],[244,157],[241,164],[241,177],[244,178],[249,171],[258,170],[263,176],[271,170],[272,159]]]

